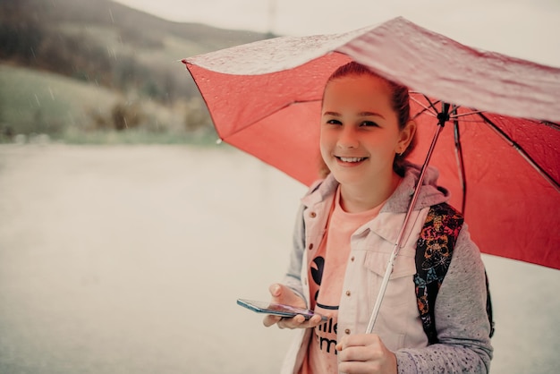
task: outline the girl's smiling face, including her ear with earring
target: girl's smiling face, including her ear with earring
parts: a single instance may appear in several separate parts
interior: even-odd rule
[[[341,184],[393,178],[396,153],[403,152],[414,129],[399,129],[385,81],[369,74],[330,81],[321,113],[321,156]]]

